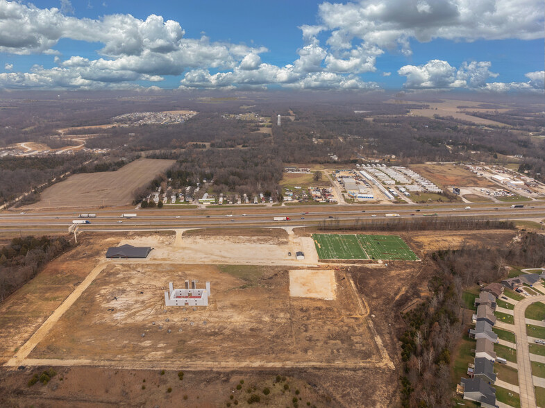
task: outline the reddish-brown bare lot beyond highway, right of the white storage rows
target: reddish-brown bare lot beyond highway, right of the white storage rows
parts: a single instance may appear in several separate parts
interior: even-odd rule
[[[496,188],[493,182],[478,177],[471,171],[452,164],[411,164],[410,169],[434,182],[437,187],[485,187]]]

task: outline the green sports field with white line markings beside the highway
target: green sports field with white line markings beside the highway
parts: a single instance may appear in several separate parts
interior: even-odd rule
[[[312,234],[321,260],[417,261],[397,235]]]

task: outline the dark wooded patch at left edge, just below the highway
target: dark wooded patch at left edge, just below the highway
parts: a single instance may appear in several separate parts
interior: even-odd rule
[[[0,250],[0,301],[34,278],[47,262],[70,248],[64,237],[14,238]]]

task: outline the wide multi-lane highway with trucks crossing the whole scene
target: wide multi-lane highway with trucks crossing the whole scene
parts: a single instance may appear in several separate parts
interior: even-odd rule
[[[154,229],[154,228],[226,228],[251,226],[315,226],[319,221],[333,219],[342,223],[360,220],[386,219],[385,214],[396,213],[401,218],[428,218],[430,216],[476,216],[487,219],[545,219],[545,202],[533,201],[523,208],[511,208],[509,204],[487,203],[471,205],[301,205],[284,207],[213,207],[206,210],[165,207],[161,210],[74,209],[33,210],[28,212],[1,212],[0,231],[67,230],[79,214],[94,213],[96,218],[87,219],[89,224],[79,225],[79,230]],[[362,210],[364,209],[364,210]],[[131,219],[121,214],[137,214]],[[274,216],[287,216],[290,221],[273,221]],[[396,218],[399,219],[399,218]],[[120,222],[121,221],[121,222]]]

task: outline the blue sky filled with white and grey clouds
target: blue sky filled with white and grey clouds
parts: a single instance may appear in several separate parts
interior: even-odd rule
[[[0,0],[0,89],[544,92],[543,0]]]

